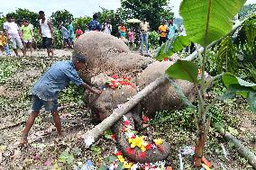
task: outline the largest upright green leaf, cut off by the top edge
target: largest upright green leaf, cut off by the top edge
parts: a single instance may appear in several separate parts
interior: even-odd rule
[[[179,13],[187,36],[203,46],[227,34],[245,0],[183,0]]]

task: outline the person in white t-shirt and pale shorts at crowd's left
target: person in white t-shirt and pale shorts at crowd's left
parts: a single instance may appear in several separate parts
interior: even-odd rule
[[[19,48],[22,49],[24,56],[25,51],[23,49],[23,42],[21,40],[19,27],[14,22],[14,17],[11,14],[6,14],[6,21],[7,22],[4,23],[5,33],[7,35],[7,39],[12,42],[12,47],[14,49],[15,55],[18,56],[17,48]]]

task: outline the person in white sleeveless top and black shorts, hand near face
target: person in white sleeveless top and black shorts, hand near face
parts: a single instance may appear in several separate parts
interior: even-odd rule
[[[53,50],[51,49],[53,39],[53,28],[52,23],[46,19],[43,11],[39,12],[40,17],[40,28],[39,35],[42,38],[42,47],[47,49],[48,57],[53,56]],[[50,55],[51,54],[51,55]]]

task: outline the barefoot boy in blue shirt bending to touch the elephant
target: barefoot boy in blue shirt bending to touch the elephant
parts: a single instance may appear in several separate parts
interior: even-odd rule
[[[32,87],[32,114],[26,122],[20,144],[27,141],[29,130],[32,128],[35,118],[39,115],[41,107],[51,112],[55,127],[61,136],[61,123],[58,112],[58,93],[72,81],[76,85],[82,85],[85,89],[95,94],[101,94],[100,90],[92,89],[78,76],[78,72],[86,64],[86,58],[74,54],[72,60],[59,61],[50,67]]]

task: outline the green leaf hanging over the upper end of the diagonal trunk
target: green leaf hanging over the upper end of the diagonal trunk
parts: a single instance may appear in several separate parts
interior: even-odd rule
[[[197,85],[197,70],[197,65],[192,61],[178,60],[171,65],[165,73],[170,78],[187,80]]]

